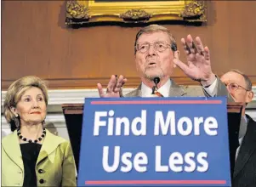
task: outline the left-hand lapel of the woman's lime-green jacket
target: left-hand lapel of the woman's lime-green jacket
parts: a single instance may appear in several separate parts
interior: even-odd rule
[[[14,163],[17,164],[18,167],[23,171],[24,165],[21,156],[20,143],[17,135],[17,130],[14,133],[11,133],[5,139],[2,140],[3,150],[5,150],[6,154],[9,156]]]

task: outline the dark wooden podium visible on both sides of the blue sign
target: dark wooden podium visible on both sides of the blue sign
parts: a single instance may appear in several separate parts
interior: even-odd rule
[[[78,165],[82,133],[83,104],[64,104],[61,106],[65,116],[65,122],[69,137],[71,139],[71,146],[76,161],[77,171],[79,171]],[[239,145],[238,134],[241,121],[242,105],[238,103],[229,103],[227,105],[227,111],[230,142],[230,173],[232,175],[235,166],[236,149]]]

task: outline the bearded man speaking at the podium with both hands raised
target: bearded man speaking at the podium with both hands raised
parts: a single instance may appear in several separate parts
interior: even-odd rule
[[[134,59],[141,84],[125,97],[220,96],[228,95],[225,85],[213,74],[210,51],[202,45],[200,37],[193,41],[191,35],[181,39],[187,65],[179,60],[179,50],[167,28],[151,25],[142,28],[136,36]],[[170,79],[178,66],[185,75],[200,82],[201,87],[181,87]],[[106,92],[100,83],[100,97],[122,97],[122,86],[127,79],[111,76]],[[214,94],[213,94],[214,93]]]

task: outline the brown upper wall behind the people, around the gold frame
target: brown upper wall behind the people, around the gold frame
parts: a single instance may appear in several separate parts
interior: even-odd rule
[[[165,25],[178,44],[187,34],[202,37],[211,50],[213,71],[221,76],[239,69],[256,85],[256,1],[208,1],[203,26]],[[49,88],[96,88],[111,74],[139,83],[134,64],[134,37],[140,27],[65,26],[64,1],[2,1],[2,87],[36,75]],[[180,45],[178,45],[178,48]],[[185,61],[181,53],[181,59]],[[192,84],[179,71],[174,79]]]

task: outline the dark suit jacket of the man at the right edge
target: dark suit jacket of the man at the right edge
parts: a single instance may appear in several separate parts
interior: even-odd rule
[[[247,116],[247,132],[236,158],[232,187],[256,187],[256,122]]]

